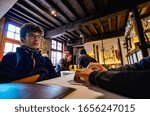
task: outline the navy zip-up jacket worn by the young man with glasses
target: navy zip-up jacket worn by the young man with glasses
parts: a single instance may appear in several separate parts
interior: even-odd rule
[[[16,54],[19,54],[19,59]],[[26,46],[18,47],[16,53],[7,53],[0,64],[0,83],[11,82],[35,74],[41,75],[38,81],[58,76],[48,57],[43,57],[39,50]]]

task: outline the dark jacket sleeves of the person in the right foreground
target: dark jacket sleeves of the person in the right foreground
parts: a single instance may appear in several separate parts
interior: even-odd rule
[[[106,72],[94,71],[90,74],[89,81],[130,98],[150,98],[150,56],[138,63]]]

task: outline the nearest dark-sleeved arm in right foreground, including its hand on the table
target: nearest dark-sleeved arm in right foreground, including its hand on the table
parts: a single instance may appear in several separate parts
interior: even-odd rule
[[[150,98],[150,70],[146,71],[93,71],[78,70],[74,80],[84,79],[109,91],[131,98]],[[81,78],[82,77],[82,78]]]

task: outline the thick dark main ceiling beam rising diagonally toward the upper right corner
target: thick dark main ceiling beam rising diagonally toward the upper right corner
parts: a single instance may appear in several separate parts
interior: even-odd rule
[[[79,4],[80,1],[77,0]],[[134,3],[136,2],[136,3]],[[72,23],[69,23],[69,24],[66,24],[66,25],[63,25],[59,28],[56,28],[56,29],[53,29],[51,31],[48,31],[46,36],[50,36],[50,37],[53,37],[53,36],[56,36],[56,35],[60,35],[61,33],[63,33],[64,31],[71,31],[71,30],[74,30],[75,28],[78,28],[79,25],[83,24],[83,23],[86,23],[86,22],[89,22],[91,20],[94,20],[94,19],[97,19],[97,18],[101,18],[101,19],[107,19],[107,18],[110,18],[112,16],[117,16],[119,14],[122,14],[122,13],[126,13],[128,9],[130,9],[134,4],[139,4],[141,2],[139,1],[123,1],[122,4],[117,4],[117,5],[113,5],[109,8],[107,8],[106,10],[102,10],[101,12],[97,12],[95,14],[92,14],[90,16],[87,16],[87,17],[84,17],[82,19],[79,19],[79,20],[76,20]]]

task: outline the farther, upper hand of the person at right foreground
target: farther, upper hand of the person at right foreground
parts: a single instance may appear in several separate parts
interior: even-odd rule
[[[94,70],[94,71],[100,71],[100,72],[107,71],[107,69],[103,65],[101,65],[100,63],[94,63],[94,62],[89,63],[87,68]]]

